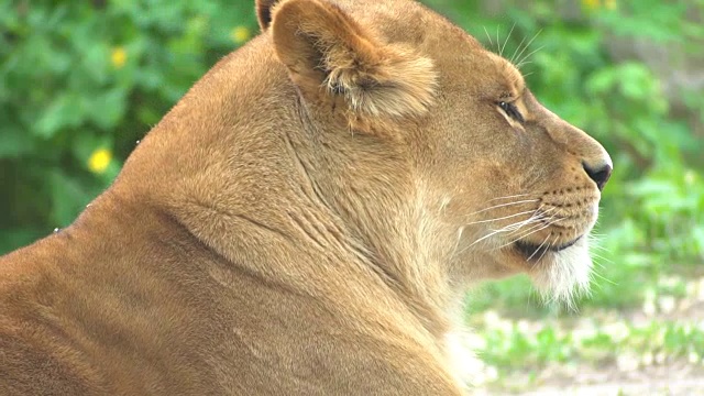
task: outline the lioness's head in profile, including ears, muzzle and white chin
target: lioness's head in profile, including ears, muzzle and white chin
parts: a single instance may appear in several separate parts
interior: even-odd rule
[[[300,169],[362,255],[428,290],[515,273],[563,300],[587,288],[612,161],[516,66],[411,1],[257,11],[277,89],[300,99]]]

